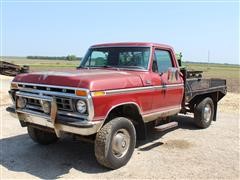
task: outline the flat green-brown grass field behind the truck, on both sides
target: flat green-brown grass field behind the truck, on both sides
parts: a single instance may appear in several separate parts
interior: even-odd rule
[[[3,58],[4,61],[18,65],[29,65],[31,71],[71,70],[79,65],[79,61],[40,60],[26,58]],[[184,63],[188,69],[204,71],[205,78],[227,79],[229,92],[240,93],[240,66],[224,64]]]

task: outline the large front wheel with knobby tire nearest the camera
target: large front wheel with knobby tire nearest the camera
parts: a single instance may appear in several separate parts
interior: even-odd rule
[[[117,169],[129,161],[136,145],[136,131],[132,122],[124,117],[114,118],[97,133],[95,156],[110,169]]]

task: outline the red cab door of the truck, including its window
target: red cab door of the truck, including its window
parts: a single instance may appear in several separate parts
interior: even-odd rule
[[[174,112],[181,108],[184,93],[175,55],[172,50],[155,49],[153,56],[153,110]]]

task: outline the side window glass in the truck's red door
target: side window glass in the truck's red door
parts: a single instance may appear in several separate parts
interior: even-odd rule
[[[159,73],[167,72],[169,67],[173,67],[171,55],[168,51],[155,50],[155,60]]]

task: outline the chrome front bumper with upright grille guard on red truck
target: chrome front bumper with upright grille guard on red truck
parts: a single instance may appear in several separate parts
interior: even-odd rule
[[[51,112],[50,114],[45,114],[29,109],[16,108],[18,97],[48,101],[51,104]],[[66,115],[63,116],[58,114],[56,100],[53,97],[34,96],[33,94],[18,92],[14,102],[15,106],[8,107],[6,110],[10,112],[12,116],[18,118],[21,125],[33,124],[51,128],[55,131],[58,137],[61,136],[61,132],[68,132],[83,136],[92,135],[97,133],[103,125],[103,121],[93,122],[86,119],[79,120]]]

